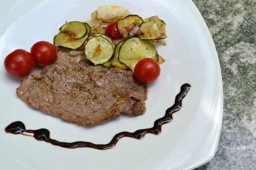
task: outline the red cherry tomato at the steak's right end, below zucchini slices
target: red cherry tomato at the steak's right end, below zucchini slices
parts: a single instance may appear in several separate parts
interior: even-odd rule
[[[134,75],[140,82],[154,82],[160,75],[160,66],[154,59],[142,59],[135,65]]]

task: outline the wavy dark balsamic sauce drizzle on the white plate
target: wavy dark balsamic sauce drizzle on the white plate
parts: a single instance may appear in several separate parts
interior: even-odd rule
[[[56,140],[50,138],[49,130],[47,130],[47,129],[26,130],[25,125],[20,121],[12,122],[10,125],[8,125],[5,128],[5,131],[6,131],[6,133],[12,133],[12,134],[23,134],[23,132],[34,133],[34,138],[38,141],[45,141],[45,142],[51,143],[53,145],[65,147],[65,148],[91,147],[91,148],[99,149],[99,150],[110,149],[110,148],[113,148],[116,145],[116,143],[119,141],[119,139],[121,139],[122,137],[143,139],[143,137],[145,136],[146,133],[152,133],[155,135],[160,134],[161,126],[163,124],[171,122],[172,114],[180,110],[180,108],[182,106],[182,99],[186,96],[190,87],[191,87],[191,85],[189,85],[187,83],[183,84],[180,87],[180,93],[177,94],[177,96],[175,98],[174,105],[172,105],[172,107],[170,107],[166,110],[166,114],[162,118],[157,119],[154,122],[153,127],[147,128],[147,129],[140,129],[140,130],[135,131],[134,133],[131,133],[131,132],[117,133],[113,137],[111,142],[109,142],[108,144],[93,144],[91,142],[81,142],[81,141],[72,142],[72,143],[59,142],[59,141],[56,141]],[[23,135],[25,135],[25,134],[23,134]]]

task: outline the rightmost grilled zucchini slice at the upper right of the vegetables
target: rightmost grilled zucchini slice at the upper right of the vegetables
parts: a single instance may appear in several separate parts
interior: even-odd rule
[[[140,26],[144,35],[139,35],[142,40],[160,40],[166,38],[166,23],[163,20],[149,19]]]

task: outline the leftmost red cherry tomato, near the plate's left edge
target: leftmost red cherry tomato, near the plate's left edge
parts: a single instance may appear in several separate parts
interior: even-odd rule
[[[34,59],[28,51],[17,49],[6,56],[4,68],[11,76],[23,78],[28,76],[33,70]]]

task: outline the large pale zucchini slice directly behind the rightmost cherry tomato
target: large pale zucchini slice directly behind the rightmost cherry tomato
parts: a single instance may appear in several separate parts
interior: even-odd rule
[[[123,42],[119,50],[118,60],[130,68],[131,71],[134,71],[137,62],[144,58],[152,58],[158,61],[157,50],[151,43],[138,37]]]

